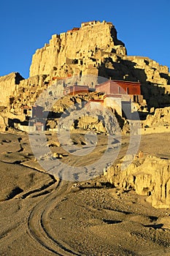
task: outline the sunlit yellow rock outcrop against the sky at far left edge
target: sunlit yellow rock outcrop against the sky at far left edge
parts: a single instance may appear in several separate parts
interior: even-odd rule
[[[1,99],[0,105],[9,105],[9,97],[14,93],[20,80],[24,78],[18,72],[12,72],[9,75],[4,75],[0,77],[0,91]]]

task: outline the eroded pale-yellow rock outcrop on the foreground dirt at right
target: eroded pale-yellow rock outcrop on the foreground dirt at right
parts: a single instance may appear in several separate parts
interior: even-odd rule
[[[141,156],[141,154],[140,154]],[[134,189],[138,195],[147,196],[148,202],[155,208],[170,208],[169,159],[147,156],[133,160],[133,156],[122,159],[132,161],[125,170],[122,162],[109,167],[104,173],[115,187]]]

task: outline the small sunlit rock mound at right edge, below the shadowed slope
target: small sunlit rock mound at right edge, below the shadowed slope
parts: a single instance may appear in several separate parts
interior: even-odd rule
[[[146,121],[144,121],[144,127],[163,127],[169,125],[170,107],[155,109],[155,112],[148,115]]]

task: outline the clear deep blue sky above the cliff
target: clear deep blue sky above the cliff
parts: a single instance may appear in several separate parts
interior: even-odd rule
[[[107,20],[117,29],[128,55],[148,56],[170,67],[169,0],[1,0],[0,76],[28,78],[31,56],[52,34],[83,21]]]

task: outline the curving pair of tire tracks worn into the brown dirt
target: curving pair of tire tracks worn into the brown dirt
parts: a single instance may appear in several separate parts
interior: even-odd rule
[[[54,255],[79,255],[72,248],[57,241],[47,228],[48,214],[61,201],[61,199],[69,192],[72,183],[66,181],[58,181],[54,191],[43,198],[34,208],[28,217],[28,234],[34,238],[34,241],[41,244],[44,249],[52,252]]]

